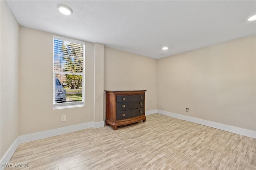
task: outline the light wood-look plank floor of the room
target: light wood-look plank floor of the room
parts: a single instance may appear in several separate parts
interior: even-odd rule
[[[160,114],[20,144],[24,170],[256,170],[256,139]]]

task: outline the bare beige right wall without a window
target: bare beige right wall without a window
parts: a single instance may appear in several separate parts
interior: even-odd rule
[[[159,59],[157,109],[255,131],[255,47],[253,35]]]

